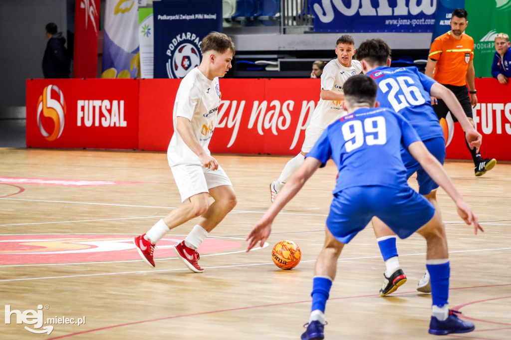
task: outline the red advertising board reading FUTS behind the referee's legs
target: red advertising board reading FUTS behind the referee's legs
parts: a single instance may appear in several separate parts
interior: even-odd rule
[[[482,135],[481,156],[511,160],[511,85],[494,78],[475,80],[478,104],[472,109],[477,131]],[[447,159],[472,159],[458,123],[447,149]]]

